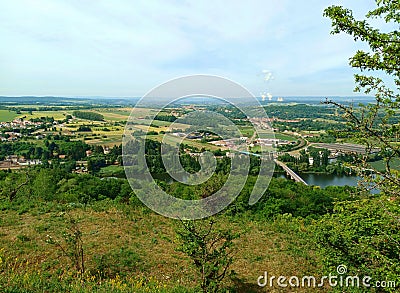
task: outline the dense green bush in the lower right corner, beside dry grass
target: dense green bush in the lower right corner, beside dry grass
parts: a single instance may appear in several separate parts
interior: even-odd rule
[[[370,276],[371,284],[375,281],[399,284],[399,216],[398,200],[367,199],[335,204],[334,213],[322,217],[314,227],[326,272],[335,272],[338,265],[346,265],[349,275]]]

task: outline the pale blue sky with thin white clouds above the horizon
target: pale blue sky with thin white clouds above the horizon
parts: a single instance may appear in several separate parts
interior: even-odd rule
[[[351,96],[348,59],[324,8],[362,17],[373,0],[9,0],[0,4],[0,95],[140,97],[190,74],[254,95]]]

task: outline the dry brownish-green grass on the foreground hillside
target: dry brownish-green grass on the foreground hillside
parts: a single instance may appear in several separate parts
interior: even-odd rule
[[[48,202],[31,204],[22,214],[18,209],[0,211],[0,219],[9,219],[0,221],[3,292],[57,292],[62,288],[69,292],[196,292],[191,262],[175,250],[176,220],[109,200],[70,206],[68,214],[78,220],[83,233],[87,274],[82,283],[74,277],[68,257],[46,242],[49,235],[65,245],[66,207]],[[223,228],[245,232],[236,241],[232,266],[236,278],[225,283],[238,292],[264,292],[256,285],[264,271],[302,275],[319,270],[299,227],[290,220],[253,222],[222,215],[218,222]]]

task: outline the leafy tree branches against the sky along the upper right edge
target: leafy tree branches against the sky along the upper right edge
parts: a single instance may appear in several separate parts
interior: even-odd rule
[[[359,105],[357,108],[331,100],[325,103],[333,104],[342,111],[353,130],[352,133],[366,146],[366,154],[360,163],[355,164],[360,175],[370,186],[373,183],[384,194],[398,197],[400,175],[392,166],[394,160],[400,157],[400,144],[397,143],[400,133],[400,32],[384,32],[369,22],[371,19],[378,19],[389,27],[399,27],[400,3],[398,0],[376,0],[376,4],[376,9],[368,12],[364,20],[356,20],[351,10],[341,6],[328,7],[324,15],[332,20],[332,34],[344,32],[355,41],[362,41],[369,46],[369,51],[357,51],[350,58],[350,65],[361,72],[382,73],[390,83],[376,76],[356,74],[355,92],[374,94],[374,103]],[[393,85],[388,85],[392,82]],[[385,172],[365,172],[365,169],[372,168],[368,159],[373,152],[378,152],[384,159]]]

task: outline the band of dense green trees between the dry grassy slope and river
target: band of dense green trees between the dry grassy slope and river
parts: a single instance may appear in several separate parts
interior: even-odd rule
[[[23,174],[21,174],[23,173]],[[219,190],[227,179],[224,172],[212,176],[201,186],[186,185],[180,182],[162,184],[168,193],[186,199],[200,199]],[[25,171],[0,171],[0,190],[7,197],[7,190],[29,180],[29,184],[18,191],[15,198],[55,200],[60,203],[89,203],[102,199],[120,199],[125,202],[139,202],[126,179],[108,179],[90,174],[68,172],[64,164],[54,163],[49,166],[35,166]],[[249,176],[238,198],[232,203],[227,214],[236,216],[251,211],[253,219],[274,219],[279,214],[291,214],[302,218],[318,218],[333,211],[335,201],[356,200],[350,198],[353,187],[328,187],[315,189],[312,186],[294,181],[272,178],[271,183],[261,198],[249,205],[249,196],[256,176]],[[8,186],[10,185],[10,186]]]

